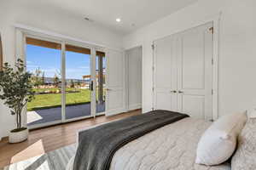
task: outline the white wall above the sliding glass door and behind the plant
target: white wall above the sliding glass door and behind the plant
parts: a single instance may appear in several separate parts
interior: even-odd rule
[[[83,20],[83,16],[79,19],[66,14],[61,8],[51,8],[40,3],[38,7],[30,6],[26,0],[1,1],[0,32],[3,39],[3,61],[11,64],[15,62],[15,23],[95,42],[110,48],[122,48],[122,36]],[[11,116],[9,109],[0,103],[0,139],[8,136],[9,130],[14,127],[15,116]]]

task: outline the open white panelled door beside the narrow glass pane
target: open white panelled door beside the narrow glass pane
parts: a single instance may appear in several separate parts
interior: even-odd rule
[[[107,53],[106,116],[125,110],[124,53],[109,50]]]

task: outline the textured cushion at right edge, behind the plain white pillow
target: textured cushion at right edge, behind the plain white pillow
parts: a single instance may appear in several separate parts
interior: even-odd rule
[[[256,116],[250,114],[245,127],[238,136],[238,144],[235,155],[231,160],[232,170],[256,169]]]

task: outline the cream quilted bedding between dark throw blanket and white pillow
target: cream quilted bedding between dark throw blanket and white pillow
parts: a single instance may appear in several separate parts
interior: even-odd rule
[[[211,122],[184,118],[133,140],[113,156],[110,170],[230,170],[229,164],[195,164],[196,147]],[[73,170],[73,159],[67,170]]]

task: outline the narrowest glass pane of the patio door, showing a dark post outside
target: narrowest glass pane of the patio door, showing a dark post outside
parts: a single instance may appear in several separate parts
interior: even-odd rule
[[[106,55],[96,51],[96,115],[105,112]]]

